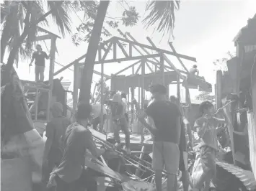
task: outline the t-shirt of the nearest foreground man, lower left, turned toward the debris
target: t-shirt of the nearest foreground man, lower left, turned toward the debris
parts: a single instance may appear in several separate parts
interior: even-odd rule
[[[87,149],[95,156],[96,148],[89,129],[76,122],[71,124],[66,130],[65,150],[61,164],[55,173],[67,183],[78,180],[84,169]]]

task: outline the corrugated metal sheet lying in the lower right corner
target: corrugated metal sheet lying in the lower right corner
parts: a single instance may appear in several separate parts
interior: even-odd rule
[[[256,189],[256,180],[254,174],[251,171],[241,169],[233,164],[229,164],[226,162],[216,162],[217,165],[226,169],[226,171],[234,174],[241,182],[243,182],[244,186],[247,190],[255,190]]]

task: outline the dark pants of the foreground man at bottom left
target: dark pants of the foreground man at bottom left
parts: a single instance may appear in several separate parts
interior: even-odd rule
[[[93,172],[94,171],[90,169],[84,169],[79,180],[75,180],[74,182],[70,183],[64,182],[58,176],[56,176],[56,191],[84,191],[85,189],[87,189],[87,191],[96,191],[97,181],[95,180],[95,177],[102,174]]]

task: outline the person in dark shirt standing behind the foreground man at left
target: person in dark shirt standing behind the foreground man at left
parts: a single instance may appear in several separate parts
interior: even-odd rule
[[[45,128],[45,136],[47,140],[45,142],[45,149],[43,153],[43,181],[46,186],[55,166],[61,162],[63,155],[63,141],[67,127],[70,125],[68,118],[62,116],[63,106],[61,103],[53,103],[51,107],[53,118],[48,122]]]

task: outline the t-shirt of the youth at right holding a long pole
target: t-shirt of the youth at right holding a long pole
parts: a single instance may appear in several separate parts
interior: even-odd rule
[[[201,118],[198,118],[195,121],[194,128],[205,129],[205,133],[200,137],[200,145],[201,146],[210,146],[213,149],[218,150],[218,138],[217,131],[214,124],[208,122],[203,122]]]

